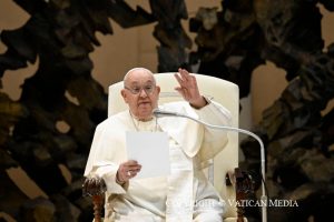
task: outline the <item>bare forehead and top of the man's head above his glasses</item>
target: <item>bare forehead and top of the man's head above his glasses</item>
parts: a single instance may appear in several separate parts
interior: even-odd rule
[[[155,84],[156,80],[151,71],[145,68],[135,68],[127,72],[124,78],[124,84]]]

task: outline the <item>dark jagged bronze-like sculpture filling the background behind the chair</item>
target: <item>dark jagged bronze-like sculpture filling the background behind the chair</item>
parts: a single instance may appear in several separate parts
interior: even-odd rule
[[[17,100],[0,91],[2,213],[35,221],[32,212],[42,209],[40,220],[91,221],[91,201],[81,193],[82,172],[95,127],[107,113],[107,94],[92,75],[90,53],[104,47],[97,36],[115,34],[116,26],[154,26],[158,72],[185,67],[223,78],[237,83],[245,98],[259,65],[271,62],[285,71],[286,88],[253,131],[265,142],[271,198],[298,200],[301,205],[271,208],[268,218],[324,221],[330,215],[334,44],[324,44],[320,7],[332,12],[333,1],[223,0],[217,8],[203,4],[194,14],[183,0],[151,0],[150,10],[120,0],[14,2],[29,18],[21,27],[1,29],[6,50],[0,54],[0,88],[6,87],[6,72],[38,65]],[[240,167],[257,189],[257,143],[247,138],[242,149]],[[14,184],[8,170],[18,167],[45,195],[28,196]],[[258,220],[256,208],[246,214]]]

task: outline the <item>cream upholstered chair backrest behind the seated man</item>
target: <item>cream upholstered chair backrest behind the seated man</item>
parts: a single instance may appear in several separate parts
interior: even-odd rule
[[[213,98],[232,112],[232,127],[238,127],[239,117],[239,89],[238,85],[218,78],[193,73],[197,79],[198,88],[204,95]],[[156,73],[157,84],[160,85],[159,104],[183,100],[174,90],[178,82],[174,72]],[[128,109],[124,102],[120,90],[122,82],[117,82],[109,87],[108,97],[108,117]],[[234,172],[238,167],[238,134],[228,132],[227,147],[214,159],[212,165],[214,172],[214,185],[220,195],[226,200],[227,212],[224,218],[236,218],[236,208],[228,200],[235,200],[235,190],[233,186],[226,186],[225,175],[227,172]],[[210,175],[207,174],[209,178]]]

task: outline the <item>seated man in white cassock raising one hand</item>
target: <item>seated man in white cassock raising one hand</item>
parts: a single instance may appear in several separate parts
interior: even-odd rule
[[[175,89],[186,101],[159,109],[184,113],[205,122],[230,124],[223,105],[203,97],[194,75],[179,69]],[[145,68],[131,69],[124,79],[121,95],[129,110],[98,124],[85,176],[99,176],[107,185],[105,221],[216,222],[223,221],[225,202],[202,171],[202,163],[227,143],[225,131],[208,129],[185,118],[158,118],[160,88]],[[140,162],[127,160],[127,131],[160,131],[168,134],[170,174],[131,180]],[[158,164],[158,163],[157,163]]]

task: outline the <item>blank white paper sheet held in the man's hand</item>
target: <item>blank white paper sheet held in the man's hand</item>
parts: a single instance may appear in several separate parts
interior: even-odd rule
[[[127,132],[128,160],[141,164],[134,179],[169,175],[169,145],[166,132]]]

